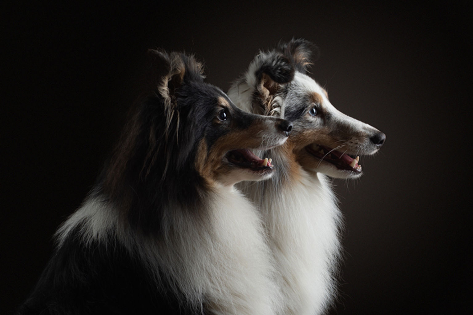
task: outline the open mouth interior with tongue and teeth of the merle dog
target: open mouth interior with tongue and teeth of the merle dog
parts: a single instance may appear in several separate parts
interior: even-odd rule
[[[350,170],[357,173],[362,171],[361,165],[358,164],[359,156],[354,157],[353,155],[317,144],[307,145],[306,150],[321,161],[333,164],[339,170]]]

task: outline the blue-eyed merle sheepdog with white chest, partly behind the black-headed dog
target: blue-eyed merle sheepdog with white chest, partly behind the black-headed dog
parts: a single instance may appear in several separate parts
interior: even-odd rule
[[[264,152],[277,163],[277,175],[242,183],[263,213],[285,295],[282,314],[323,314],[336,296],[341,213],[327,175],[360,177],[359,156],[376,153],[385,141],[379,130],[333,107],[307,75],[311,53],[303,39],[260,51],[228,92],[245,111],[293,123],[288,141]],[[275,76],[280,72],[286,76]]]

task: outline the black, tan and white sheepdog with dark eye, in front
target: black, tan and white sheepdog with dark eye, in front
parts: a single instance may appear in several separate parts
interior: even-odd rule
[[[150,50],[151,89],[19,314],[275,314],[261,219],[234,187],[287,120],[246,113],[193,56]]]

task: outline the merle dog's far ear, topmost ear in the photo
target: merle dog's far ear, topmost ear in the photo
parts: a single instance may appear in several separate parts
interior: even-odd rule
[[[291,60],[299,72],[307,73],[312,65],[311,57],[318,58],[318,49],[315,45],[303,38],[293,38],[289,43],[279,43],[278,50]]]

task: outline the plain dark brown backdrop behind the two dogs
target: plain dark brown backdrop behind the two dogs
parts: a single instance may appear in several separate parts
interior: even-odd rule
[[[472,314],[471,5],[115,2],[2,2],[1,314],[93,185],[146,49],[195,53],[227,90],[293,36],[320,48],[332,103],[387,135],[362,179],[335,181],[346,252],[331,314]]]

